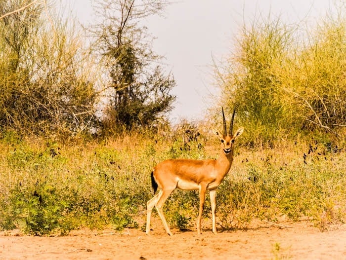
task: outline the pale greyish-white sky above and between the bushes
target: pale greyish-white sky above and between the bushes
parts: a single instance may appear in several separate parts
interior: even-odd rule
[[[92,24],[92,0],[66,1],[82,24]],[[145,25],[156,37],[154,51],[165,57],[167,71],[173,73],[176,81],[172,93],[177,100],[171,120],[203,118],[213,102],[211,93],[218,91],[212,57],[221,60],[229,56],[244,23],[270,13],[288,23],[304,21],[313,25],[334,9],[334,2],[341,1],[177,0],[166,8],[164,17],[148,18]]]

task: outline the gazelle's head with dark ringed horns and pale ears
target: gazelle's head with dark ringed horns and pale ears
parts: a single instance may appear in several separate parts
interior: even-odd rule
[[[228,155],[233,150],[233,144],[234,144],[235,139],[237,139],[238,136],[240,136],[244,131],[244,128],[241,127],[237,131],[235,131],[235,133],[233,134],[234,114],[235,114],[235,108],[234,108],[234,111],[232,114],[231,122],[229,124],[228,134],[227,134],[227,129],[226,129],[226,119],[225,119],[225,115],[223,113],[223,108],[222,108],[223,134],[221,134],[221,132],[218,131],[217,129],[213,130],[214,134],[221,141],[221,148],[222,148],[225,155]]]

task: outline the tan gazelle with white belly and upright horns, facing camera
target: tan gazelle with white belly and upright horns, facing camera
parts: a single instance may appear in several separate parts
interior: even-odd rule
[[[210,200],[212,205],[213,216],[213,233],[216,233],[215,209],[216,209],[216,188],[220,185],[233,161],[234,141],[244,131],[244,128],[239,128],[233,134],[233,121],[235,109],[232,114],[232,119],[229,125],[229,133],[227,135],[226,119],[223,118],[223,134],[214,129],[214,134],[221,141],[221,149],[217,160],[191,160],[191,159],[170,159],[156,165],[151,173],[151,185],[154,189],[154,194],[157,188],[161,190],[147,202],[147,225],[146,234],[150,232],[150,218],[153,207],[157,212],[165,226],[166,232],[173,235],[163,213],[163,205],[172,191],[178,187],[183,190],[199,189],[199,214],[197,219],[197,232],[201,234],[202,211],[207,189],[210,192]]]

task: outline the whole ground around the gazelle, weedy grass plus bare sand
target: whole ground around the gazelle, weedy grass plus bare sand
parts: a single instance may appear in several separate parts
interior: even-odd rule
[[[211,233],[207,202],[197,236],[198,194],[177,190],[165,209],[173,237],[156,214],[143,232],[150,171],[166,158],[216,158],[219,144],[207,134],[71,145],[7,135],[0,145],[0,259],[346,256],[345,151],[333,143],[239,145],[217,192],[220,233]]]

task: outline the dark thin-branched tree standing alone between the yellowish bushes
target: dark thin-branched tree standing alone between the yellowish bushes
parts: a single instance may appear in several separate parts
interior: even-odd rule
[[[175,81],[157,65],[161,57],[143,25],[145,17],[160,14],[166,5],[162,0],[102,0],[95,6],[102,22],[92,29],[94,53],[102,57],[114,90],[104,122],[146,126],[172,109]]]

